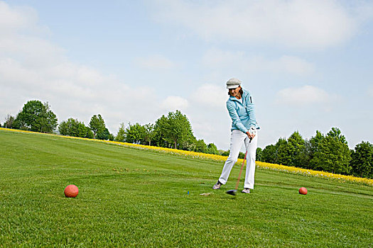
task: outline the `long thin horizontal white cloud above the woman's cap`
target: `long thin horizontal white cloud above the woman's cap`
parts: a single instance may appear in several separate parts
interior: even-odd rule
[[[202,64],[210,69],[235,68],[244,72],[272,72],[304,76],[314,71],[313,64],[300,57],[284,55],[269,59],[249,56],[245,52],[210,49],[202,57]]]

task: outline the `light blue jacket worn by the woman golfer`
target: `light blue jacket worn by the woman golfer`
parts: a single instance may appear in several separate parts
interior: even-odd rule
[[[232,129],[241,130],[246,133],[251,127],[260,129],[258,123],[256,123],[254,113],[254,103],[252,103],[252,96],[249,91],[244,90],[242,94],[242,103],[234,96],[230,96],[227,101],[227,109],[232,118]]]

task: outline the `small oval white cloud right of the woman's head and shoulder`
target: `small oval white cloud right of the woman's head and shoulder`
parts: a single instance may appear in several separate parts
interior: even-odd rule
[[[276,103],[291,106],[308,106],[313,103],[323,104],[330,101],[330,94],[315,86],[282,89],[276,94]]]

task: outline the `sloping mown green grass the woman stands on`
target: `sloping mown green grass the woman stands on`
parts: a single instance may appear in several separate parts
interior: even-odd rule
[[[222,165],[0,130],[0,247],[373,246],[372,186],[257,169],[232,197],[239,167],[211,189]]]

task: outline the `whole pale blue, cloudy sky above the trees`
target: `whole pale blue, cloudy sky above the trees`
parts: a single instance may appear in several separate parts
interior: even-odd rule
[[[116,135],[178,109],[228,150],[232,77],[259,147],[333,127],[373,143],[373,1],[0,1],[0,123],[39,100]]]

